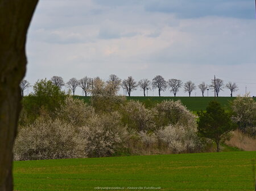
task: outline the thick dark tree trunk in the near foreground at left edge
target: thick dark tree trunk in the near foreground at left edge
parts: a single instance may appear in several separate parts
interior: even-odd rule
[[[0,0],[0,190],[13,190],[13,144],[26,71],[27,29],[38,0]]]

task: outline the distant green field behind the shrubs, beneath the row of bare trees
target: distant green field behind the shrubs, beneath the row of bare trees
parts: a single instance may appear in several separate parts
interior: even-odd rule
[[[77,96],[77,98],[84,99],[85,102],[90,101],[90,97]],[[208,102],[214,100],[214,97],[127,97],[127,99],[139,100],[145,103],[148,107],[154,106],[155,103],[161,102],[165,99],[173,99],[174,101],[180,99],[180,101],[187,106],[189,110],[200,111],[205,110]],[[233,99],[235,99],[235,97],[216,97],[216,101],[220,102],[225,108],[229,106],[229,102]],[[254,100],[256,101],[256,98],[254,98]]]

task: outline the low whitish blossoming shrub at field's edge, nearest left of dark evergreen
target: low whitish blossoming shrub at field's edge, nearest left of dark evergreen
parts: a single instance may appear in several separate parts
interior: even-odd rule
[[[169,125],[160,128],[156,135],[170,148],[172,153],[192,152],[201,147],[200,139],[193,126]]]

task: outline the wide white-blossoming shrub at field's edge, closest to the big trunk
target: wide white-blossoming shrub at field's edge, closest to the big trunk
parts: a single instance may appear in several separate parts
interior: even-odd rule
[[[80,157],[77,135],[71,124],[59,119],[38,118],[19,130],[15,160],[64,159]]]

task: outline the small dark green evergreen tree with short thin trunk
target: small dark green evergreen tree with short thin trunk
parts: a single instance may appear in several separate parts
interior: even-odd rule
[[[220,143],[228,139],[228,133],[234,130],[236,125],[216,101],[209,102],[206,112],[200,111],[197,114],[199,115],[199,122],[197,122],[199,135],[212,139],[219,152]]]

